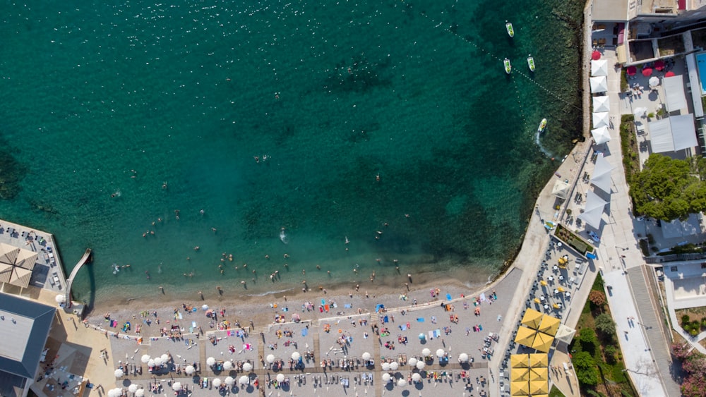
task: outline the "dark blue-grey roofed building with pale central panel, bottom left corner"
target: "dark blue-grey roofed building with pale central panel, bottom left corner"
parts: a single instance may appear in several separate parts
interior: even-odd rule
[[[56,309],[0,293],[0,396],[27,396]]]

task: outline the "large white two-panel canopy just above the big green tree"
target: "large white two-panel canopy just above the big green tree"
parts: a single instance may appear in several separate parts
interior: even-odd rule
[[[653,153],[676,152],[698,145],[693,114],[670,116],[649,125]]]

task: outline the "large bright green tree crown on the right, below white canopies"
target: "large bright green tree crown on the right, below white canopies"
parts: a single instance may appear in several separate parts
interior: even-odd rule
[[[671,221],[706,209],[706,183],[696,176],[700,164],[650,155],[630,186],[636,212]]]

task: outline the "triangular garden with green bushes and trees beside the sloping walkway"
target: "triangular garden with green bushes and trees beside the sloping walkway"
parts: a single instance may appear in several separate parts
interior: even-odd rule
[[[603,288],[601,275],[591,286],[579,317],[576,336],[569,345],[582,396],[637,396],[623,371],[616,324]]]

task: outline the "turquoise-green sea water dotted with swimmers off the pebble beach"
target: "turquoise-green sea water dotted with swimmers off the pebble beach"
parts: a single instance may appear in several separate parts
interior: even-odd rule
[[[92,248],[97,302],[395,283],[395,259],[484,281],[580,135],[571,3],[4,4],[0,217],[67,270]]]

